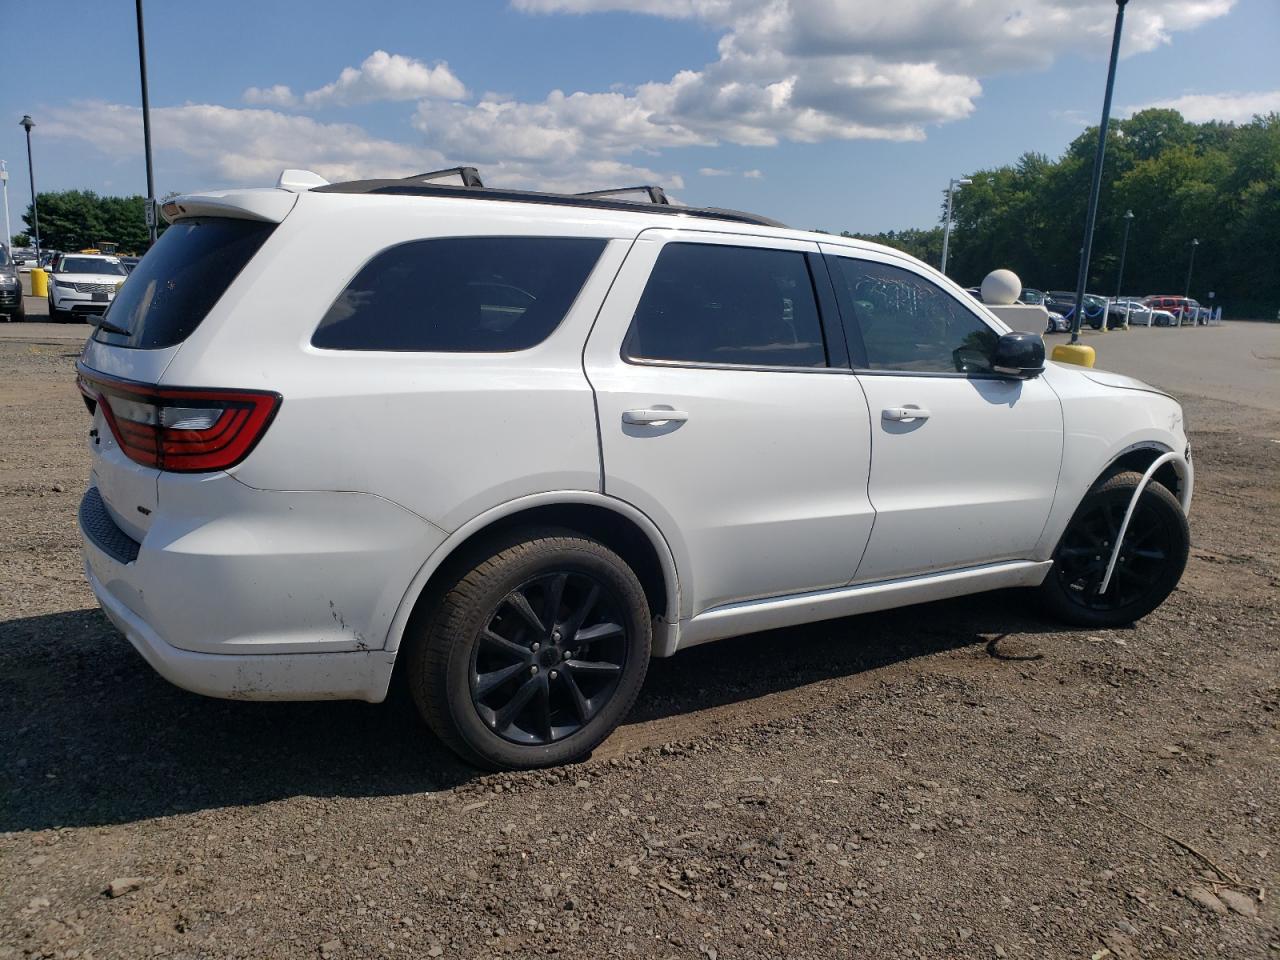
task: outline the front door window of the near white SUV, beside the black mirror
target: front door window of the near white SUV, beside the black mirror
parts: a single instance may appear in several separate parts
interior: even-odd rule
[[[902,268],[832,257],[852,300],[872,370],[973,374],[991,370],[998,335],[950,293]]]

